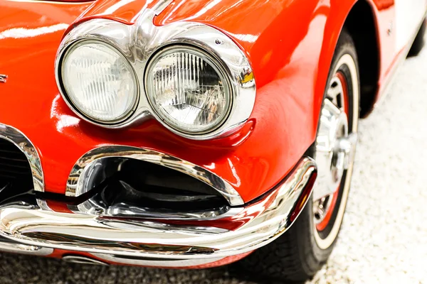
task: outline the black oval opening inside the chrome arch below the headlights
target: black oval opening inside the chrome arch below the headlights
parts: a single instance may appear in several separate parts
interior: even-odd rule
[[[92,204],[102,208],[125,205],[139,212],[228,210],[229,204],[220,192],[190,175],[142,160],[106,159],[92,175],[90,187],[96,192],[90,197]]]

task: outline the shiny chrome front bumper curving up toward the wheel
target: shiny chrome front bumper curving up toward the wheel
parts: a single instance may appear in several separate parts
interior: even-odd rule
[[[233,230],[158,221],[107,219],[32,208],[0,208],[3,236],[23,244],[133,258],[223,258],[265,246],[295,222],[312,192],[315,161],[302,158],[283,184],[217,224]]]

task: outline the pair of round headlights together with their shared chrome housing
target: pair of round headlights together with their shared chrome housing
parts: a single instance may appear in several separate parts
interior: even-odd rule
[[[105,129],[135,127],[154,117],[193,140],[241,129],[256,95],[245,52],[202,23],[156,26],[147,18],[156,13],[141,14],[132,25],[79,21],[64,35],[55,75],[70,109]]]

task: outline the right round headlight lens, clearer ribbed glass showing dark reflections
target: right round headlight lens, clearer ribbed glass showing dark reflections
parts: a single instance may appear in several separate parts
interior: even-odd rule
[[[195,48],[171,47],[154,55],[145,84],[153,109],[178,131],[213,131],[230,113],[231,87],[225,72]]]

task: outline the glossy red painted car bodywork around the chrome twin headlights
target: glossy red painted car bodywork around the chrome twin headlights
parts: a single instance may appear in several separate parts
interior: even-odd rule
[[[394,6],[384,0],[371,3],[379,41],[386,46],[391,39],[383,27]],[[214,26],[230,35],[251,61],[257,83],[251,119],[234,136],[215,141],[181,138],[154,120],[133,129],[101,129],[78,119],[58,94],[53,63],[68,25],[99,17],[132,24],[141,9],[153,4],[105,0],[23,5],[1,0],[0,27],[6,36],[0,37],[0,71],[9,80],[0,92],[9,95],[0,106],[0,121],[20,129],[36,145],[50,192],[65,191],[70,169],[85,152],[123,144],[201,165],[228,180],[243,200],[253,200],[280,182],[315,140],[334,46],[354,0],[176,0],[157,16],[157,25],[196,21]],[[14,36],[21,29],[26,32]],[[391,53],[381,48],[381,78]],[[17,109],[23,111],[16,115]]]

